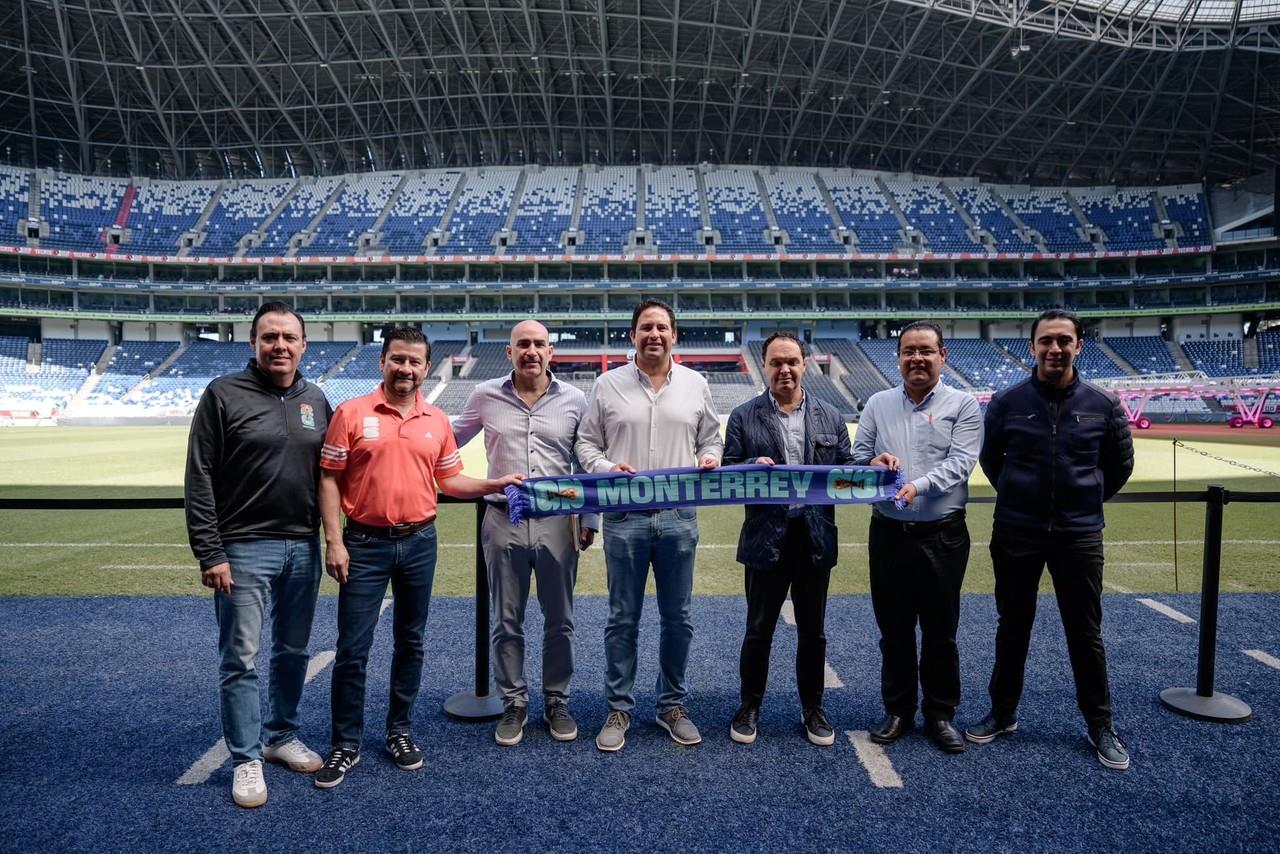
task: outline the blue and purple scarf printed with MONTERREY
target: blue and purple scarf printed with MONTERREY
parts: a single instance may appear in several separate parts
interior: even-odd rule
[[[709,504],[869,504],[893,501],[902,483],[901,471],[883,466],[749,465],[529,478],[506,493],[518,525],[541,516]]]

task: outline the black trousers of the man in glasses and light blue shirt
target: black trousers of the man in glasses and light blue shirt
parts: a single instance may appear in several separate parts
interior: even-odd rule
[[[868,535],[872,608],[881,631],[884,711],[913,718],[916,684],[924,717],[950,721],[960,704],[960,585],[969,563],[964,511],[937,522],[899,522],[872,513]],[[915,626],[920,626],[920,657]]]

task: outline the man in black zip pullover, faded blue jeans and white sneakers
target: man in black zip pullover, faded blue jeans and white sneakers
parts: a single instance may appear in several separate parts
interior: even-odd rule
[[[223,737],[234,763],[232,799],[266,803],[262,759],[314,772],[320,757],[297,737],[307,641],[324,562],[317,483],[332,408],[298,371],[302,318],[283,302],[259,309],[253,359],[205,389],[187,444],[187,535],[218,618]],[[271,599],[269,713],[255,658]]]

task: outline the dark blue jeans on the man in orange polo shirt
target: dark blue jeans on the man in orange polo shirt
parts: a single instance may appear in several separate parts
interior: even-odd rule
[[[387,732],[408,732],[422,684],[422,631],[435,580],[435,525],[401,539],[343,531],[351,556],[338,592],[338,650],[333,662],[333,746],[358,750],[365,731],[369,648],[392,585],[392,694]]]

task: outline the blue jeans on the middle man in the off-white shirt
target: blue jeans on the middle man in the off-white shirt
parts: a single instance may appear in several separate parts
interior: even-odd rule
[[[609,709],[635,708],[636,640],[644,588],[653,566],[658,589],[658,711],[684,705],[689,697],[685,667],[694,625],[689,606],[694,593],[698,513],[660,510],[604,515],[604,565],[609,584],[609,621],[604,627],[604,698]]]

